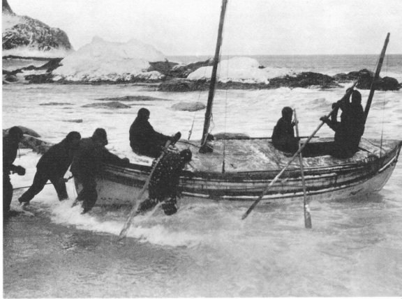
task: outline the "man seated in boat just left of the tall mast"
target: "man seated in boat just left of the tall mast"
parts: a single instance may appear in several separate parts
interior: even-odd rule
[[[168,140],[178,140],[181,133],[177,132],[174,137],[169,137],[156,132],[149,123],[150,112],[146,108],[138,110],[137,118],[130,127],[130,146],[134,153],[158,158]]]

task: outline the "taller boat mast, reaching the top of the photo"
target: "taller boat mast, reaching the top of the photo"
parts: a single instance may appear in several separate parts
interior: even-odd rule
[[[215,86],[216,86],[216,72],[218,70],[219,54],[221,52],[223,21],[225,20],[225,11],[226,11],[227,3],[228,3],[228,0],[222,0],[221,18],[219,21],[219,29],[218,29],[218,40],[216,41],[214,66],[212,67],[211,83],[209,84],[207,110],[205,112],[204,130],[202,130],[201,145],[205,144],[205,141],[207,141],[209,124],[211,123],[212,102],[214,101]]]

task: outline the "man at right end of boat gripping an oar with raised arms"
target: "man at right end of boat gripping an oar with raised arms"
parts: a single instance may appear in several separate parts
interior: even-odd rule
[[[334,142],[325,145],[323,154],[335,158],[350,158],[359,151],[360,139],[364,132],[364,111],[362,107],[362,94],[352,92],[352,102],[349,101],[350,92],[338,102],[332,104],[334,112],[331,120],[326,116],[320,118],[335,131]],[[341,108],[341,121],[337,121],[338,109]]]

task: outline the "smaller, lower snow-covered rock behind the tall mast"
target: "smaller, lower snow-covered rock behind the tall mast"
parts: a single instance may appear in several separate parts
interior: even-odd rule
[[[212,66],[198,68],[187,79],[211,79]],[[269,83],[269,79],[293,75],[288,68],[262,68],[257,60],[249,57],[234,57],[218,64],[219,82]]]

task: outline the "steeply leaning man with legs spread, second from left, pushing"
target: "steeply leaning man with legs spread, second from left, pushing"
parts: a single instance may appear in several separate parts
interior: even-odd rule
[[[34,183],[18,199],[20,204],[29,204],[29,201],[43,190],[47,181],[52,182],[59,201],[68,199],[66,182],[63,177],[71,162],[73,162],[73,154],[78,147],[80,139],[79,132],[69,132],[59,144],[55,144],[43,154],[36,165]]]

